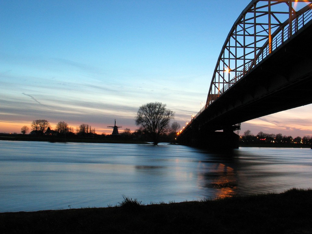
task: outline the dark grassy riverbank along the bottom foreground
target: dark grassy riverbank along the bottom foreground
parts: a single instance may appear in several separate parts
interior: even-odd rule
[[[0,232],[312,233],[312,190],[203,202],[122,203],[106,208],[0,213]]]

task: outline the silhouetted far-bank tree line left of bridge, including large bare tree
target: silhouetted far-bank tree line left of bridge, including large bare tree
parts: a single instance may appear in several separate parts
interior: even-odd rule
[[[166,108],[166,104],[161,102],[150,102],[139,107],[135,117],[135,123],[139,129],[131,133],[131,130],[126,128],[121,134],[109,135],[110,138],[124,138],[124,139],[140,139],[144,141],[151,141],[155,145],[159,142],[175,142],[176,134],[180,128],[180,124],[173,122],[171,127],[170,120],[174,119],[174,112]],[[31,129],[32,135],[50,135],[50,136],[63,136],[73,135],[74,131],[64,121],[56,124],[55,130],[52,130],[50,123],[45,119],[37,119],[32,121]],[[22,134],[26,134],[29,128],[23,126],[21,129]],[[89,124],[80,124],[76,128],[76,135],[82,137],[92,136],[95,137],[95,129],[91,128]],[[104,137],[105,134],[102,134]]]

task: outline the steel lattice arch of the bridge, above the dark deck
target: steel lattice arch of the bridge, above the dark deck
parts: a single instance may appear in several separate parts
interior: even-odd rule
[[[233,24],[222,46],[213,72],[206,105],[192,117],[190,124],[180,135],[192,128],[193,120],[207,123],[207,120],[203,119],[207,117],[207,111],[213,110],[209,107],[215,106],[216,100],[218,102],[222,100],[222,103],[228,101],[223,96],[230,94],[233,97],[232,87],[241,86],[241,84],[236,84],[241,83],[239,81],[246,79],[246,76],[252,72],[255,73],[259,67],[257,65],[263,64],[270,55],[276,54],[285,44],[290,44],[289,41],[311,24],[312,0],[252,0]],[[309,40],[308,45],[311,45]],[[310,57],[312,58],[312,55]],[[261,82],[261,79],[256,81]],[[286,110],[285,107],[283,108]],[[206,114],[205,117],[203,113]],[[196,128],[201,128],[201,124],[197,123]],[[219,124],[219,128],[214,130],[220,129],[222,127]]]

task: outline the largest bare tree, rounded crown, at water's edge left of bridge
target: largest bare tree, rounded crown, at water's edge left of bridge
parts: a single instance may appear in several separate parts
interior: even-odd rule
[[[174,112],[166,109],[166,104],[150,102],[140,106],[135,124],[150,134],[154,145],[157,145],[160,135],[168,131],[169,122],[173,118]]]

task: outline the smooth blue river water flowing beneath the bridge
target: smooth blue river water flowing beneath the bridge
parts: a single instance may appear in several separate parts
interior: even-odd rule
[[[0,212],[181,202],[312,188],[312,150],[0,141]]]

